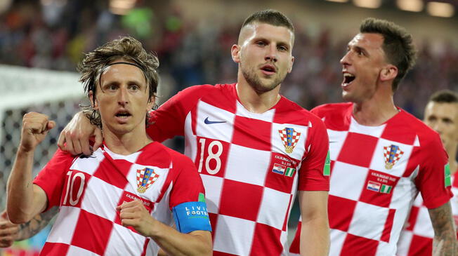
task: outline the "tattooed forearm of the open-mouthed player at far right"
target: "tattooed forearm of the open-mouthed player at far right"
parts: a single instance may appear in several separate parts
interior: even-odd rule
[[[450,201],[438,208],[429,209],[434,229],[433,255],[455,255],[457,252],[457,231],[454,228]]]

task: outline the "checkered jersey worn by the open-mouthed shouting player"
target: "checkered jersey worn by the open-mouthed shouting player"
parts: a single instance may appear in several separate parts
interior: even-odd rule
[[[395,255],[418,192],[428,208],[452,196],[447,154],[439,135],[402,109],[381,126],[360,125],[352,111],[352,103],[312,110],[329,135],[329,255]],[[299,253],[295,240],[291,252]]]

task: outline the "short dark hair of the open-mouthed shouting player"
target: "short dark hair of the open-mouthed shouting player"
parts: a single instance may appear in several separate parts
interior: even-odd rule
[[[400,81],[414,67],[417,59],[412,35],[394,22],[375,18],[363,20],[360,25],[360,32],[381,34],[384,37],[382,48],[386,58],[388,62],[398,67],[398,75],[391,87],[393,91],[397,90]]]

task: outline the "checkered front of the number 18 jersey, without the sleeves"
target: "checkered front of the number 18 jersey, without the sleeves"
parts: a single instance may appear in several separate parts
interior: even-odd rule
[[[214,96],[187,116],[186,151],[207,191],[214,255],[287,254],[287,219],[309,126],[303,114],[288,112],[288,119],[275,111],[254,114],[235,97]],[[291,153],[285,128],[295,135]]]

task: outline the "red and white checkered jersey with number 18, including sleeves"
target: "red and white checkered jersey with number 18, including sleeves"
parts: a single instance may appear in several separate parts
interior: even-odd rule
[[[155,140],[185,135],[207,191],[214,255],[287,255],[296,191],[329,189],[324,124],[281,97],[247,111],[235,84],[187,88],[152,114]]]

